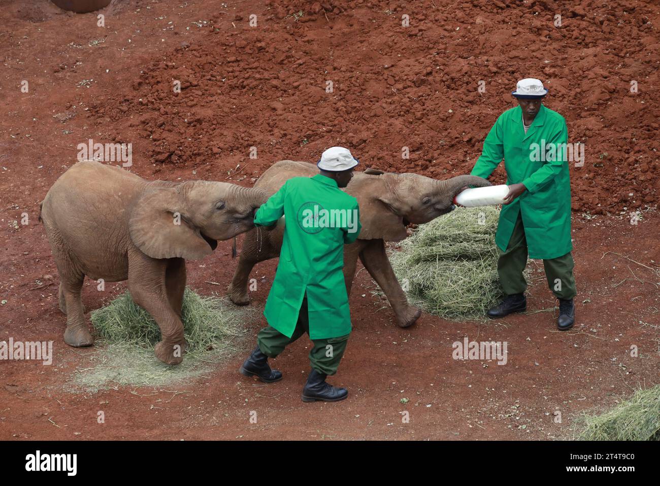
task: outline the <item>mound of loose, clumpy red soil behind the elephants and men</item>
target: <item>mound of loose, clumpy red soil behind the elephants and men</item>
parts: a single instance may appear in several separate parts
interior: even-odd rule
[[[245,165],[257,147],[251,169],[263,169],[341,144],[366,166],[444,178],[471,170],[515,103],[515,81],[539,77],[569,142],[585,145],[584,166],[572,169],[574,210],[656,202],[660,44],[649,7],[269,1],[254,15],[255,27],[248,15],[200,20],[205,36],[98,97],[92,114],[116,140],[149,139],[164,164]]]

